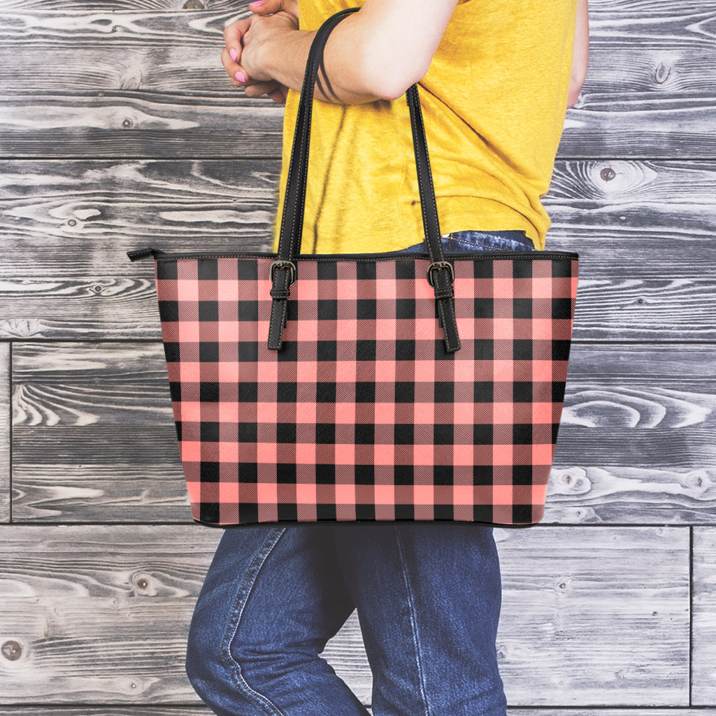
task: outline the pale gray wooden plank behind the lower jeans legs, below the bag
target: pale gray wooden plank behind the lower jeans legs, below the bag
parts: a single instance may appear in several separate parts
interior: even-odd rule
[[[195,702],[185,634],[218,537],[199,526],[0,528],[0,634],[19,657],[0,658],[4,703]],[[688,705],[688,528],[495,538],[511,705]],[[361,644],[354,614],[324,655],[367,703]]]

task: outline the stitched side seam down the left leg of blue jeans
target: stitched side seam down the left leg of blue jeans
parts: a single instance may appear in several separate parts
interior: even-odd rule
[[[284,532],[286,532],[286,529],[286,527],[277,527],[271,530],[269,536],[266,537],[261,544],[261,547],[258,548],[258,551],[256,551],[256,554],[253,556],[251,564],[246,571],[246,575],[244,575],[243,580],[241,581],[241,586],[238,588],[238,594],[236,594],[236,600],[234,601],[233,608],[231,609],[231,618],[228,620],[228,624],[226,625],[226,629],[223,634],[223,639],[221,640],[221,657],[223,659],[224,666],[231,674],[231,680],[234,684],[236,684],[238,690],[246,694],[246,696],[251,698],[251,700],[253,700],[256,705],[261,708],[261,710],[271,716],[285,716],[285,714],[278,706],[276,706],[276,704],[274,704],[274,702],[269,699],[269,697],[264,696],[248,685],[246,679],[243,677],[243,674],[241,674],[241,665],[238,664],[236,659],[234,659],[231,654],[231,645],[233,644],[234,639],[236,639],[238,627],[239,624],[241,624],[241,617],[243,616],[243,609],[246,606],[246,601],[248,601],[253,585],[256,584],[258,572],[261,571],[261,567],[266,562],[266,559],[269,558],[269,554],[271,554],[271,551],[279,542],[281,536]]]

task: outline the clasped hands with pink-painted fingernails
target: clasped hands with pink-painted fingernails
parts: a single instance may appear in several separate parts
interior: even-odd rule
[[[249,5],[254,13],[224,28],[226,48],[221,62],[231,84],[243,87],[247,97],[269,95],[274,102],[286,102],[288,88],[266,70],[264,44],[276,34],[299,29],[299,7],[295,0],[261,0]],[[237,73],[238,77],[237,77]],[[242,81],[243,78],[243,81]]]

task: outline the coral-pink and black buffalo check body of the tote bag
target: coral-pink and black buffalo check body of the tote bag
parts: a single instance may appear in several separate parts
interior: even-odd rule
[[[192,516],[216,526],[541,520],[576,254],[449,256],[445,352],[427,258],[301,255],[267,348],[271,255],[158,257]]]

